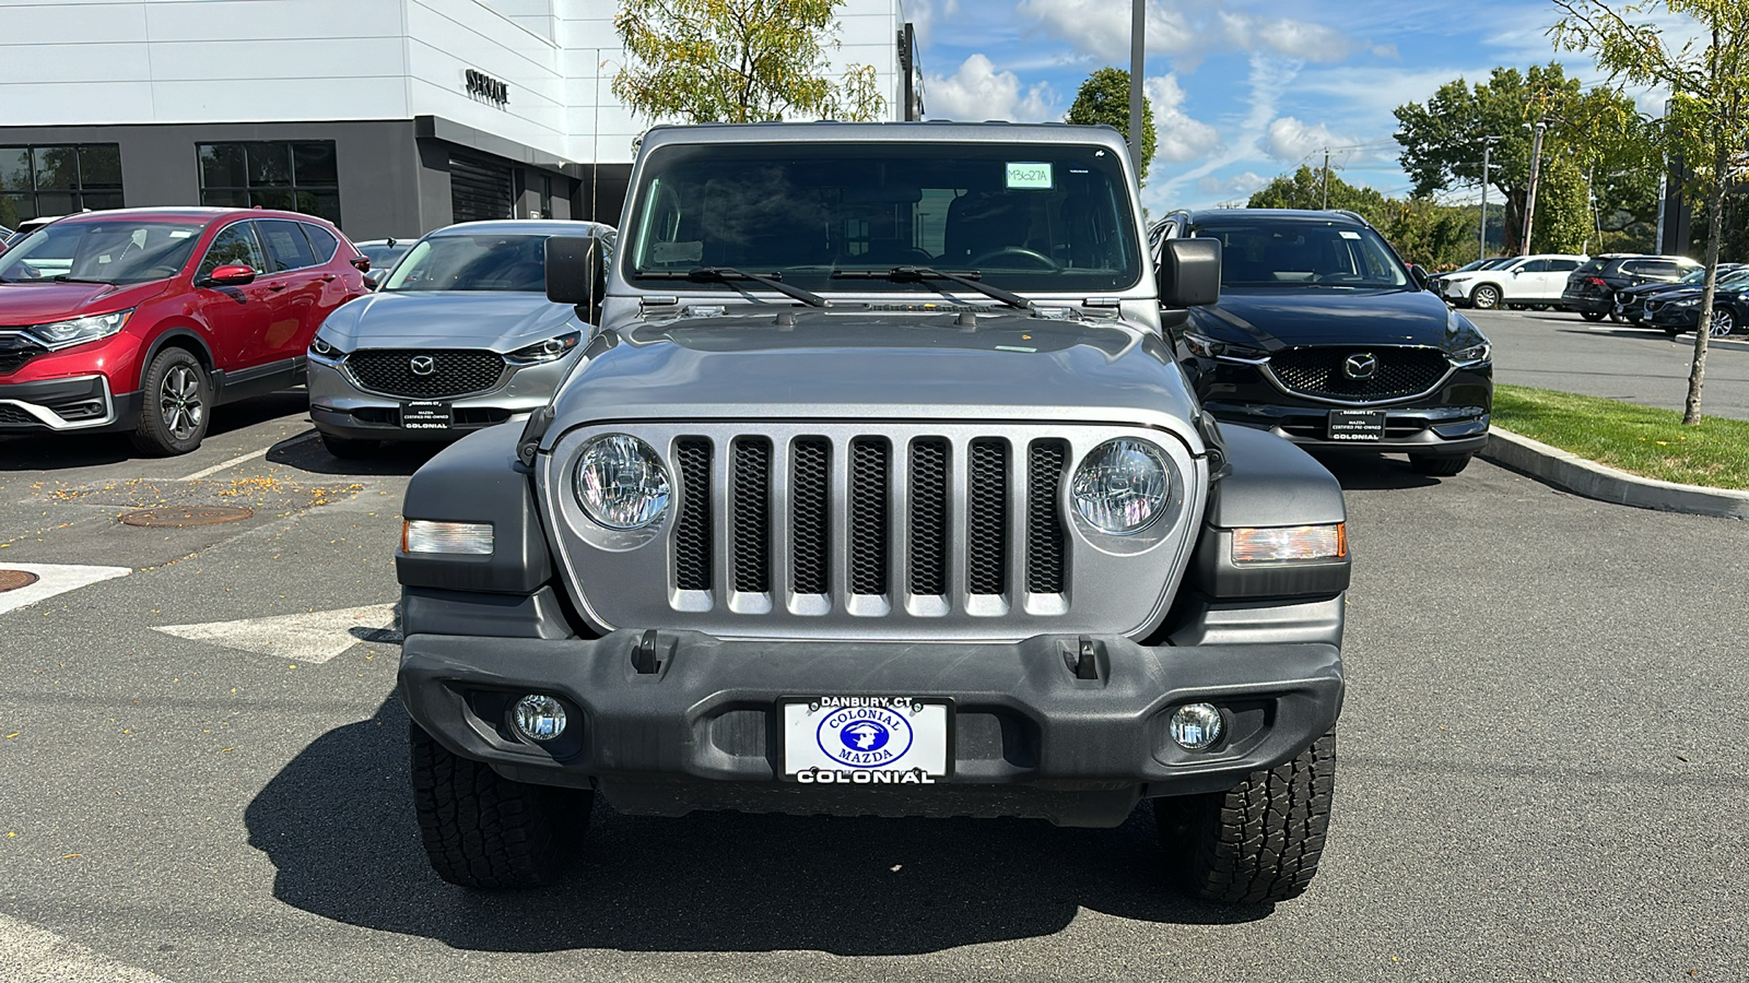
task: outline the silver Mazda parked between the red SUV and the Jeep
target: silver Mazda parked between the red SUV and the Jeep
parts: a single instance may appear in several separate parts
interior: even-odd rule
[[[451,441],[546,406],[589,325],[546,297],[546,240],[596,222],[463,222],[422,238],[310,345],[310,418],[334,457]]]

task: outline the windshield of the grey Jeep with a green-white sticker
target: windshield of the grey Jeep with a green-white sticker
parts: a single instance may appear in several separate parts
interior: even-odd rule
[[[895,266],[976,271],[988,285],[1041,292],[1121,290],[1142,276],[1123,164],[1102,147],[665,147],[644,175],[621,243],[624,276],[640,287],[686,289],[673,276],[700,266],[775,273],[808,290],[847,289],[834,271]]]

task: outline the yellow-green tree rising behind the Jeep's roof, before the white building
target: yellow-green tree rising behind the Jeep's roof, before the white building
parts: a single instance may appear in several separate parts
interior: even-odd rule
[[[874,66],[834,86],[826,49],[843,0],[624,0],[614,30],[631,63],[612,91],[633,112],[680,122],[869,121],[887,112]]]

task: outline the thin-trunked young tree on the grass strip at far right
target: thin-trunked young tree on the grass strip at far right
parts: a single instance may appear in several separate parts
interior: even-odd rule
[[[1707,374],[1707,327],[1725,240],[1725,194],[1749,154],[1749,3],[1742,0],[1553,0],[1565,16],[1550,28],[1555,44],[1585,51],[1611,79],[1670,89],[1670,110],[1653,129],[1667,154],[1681,154],[1691,178],[1688,191],[1707,205],[1707,280],[1700,294],[1695,359],[1688,369],[1683,423],[1700,423],[1700,390]],[[1711,42],[1674,47],[1655,23],[1630,17],[1688,16]]]

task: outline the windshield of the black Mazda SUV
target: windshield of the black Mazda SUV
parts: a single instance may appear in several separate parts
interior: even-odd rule
[[[1221,240],[1223,287],[1410,285],[1408,273],[1385,240],[1350,222],[1247,222],[1235,215],[1196,226],[1191,234]]]

